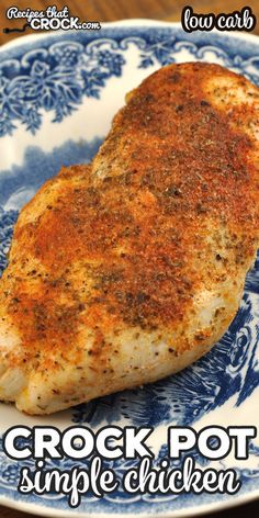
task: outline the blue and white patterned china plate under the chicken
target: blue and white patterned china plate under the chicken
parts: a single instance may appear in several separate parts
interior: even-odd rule
[[[100,32],[64,32],[22,37],[0,52],[0,270],[7,264],[20,209],[60,166],[88,162],[106,135],[125,93],[162,65],[218,63],[259,85],[259,38],[227,33],[185,34],[180,25],[133,20]],[[169,425],[259,426],[259,262],[247,277],[240,309],[218,345],[196,364],[143,390],[127,391],[46,418],[21,415],[0,404],[0,503],[44,516],[75,515],[65,496],[22,496],[21,463],[1,448],[13,425],[83,424],[154,426],[156,461],[165,453]],[[78,516],[194,516],[259,496],[259,438],[249,459],[233,455],[216,469],[234,468],[243,482],[237,495],[125,495],[82,498]],[[196,457],[198,464],[204,460]],[[49,466],[59,464],[49,462]],[[200,465],[199,464],[199,465]],[[33,468],[32,461],[26,465]],[[85,465],[86,464],[82,464]],[[113,462],[117,477],[131,462]],[[61,469],[71,469],[63,461]]]

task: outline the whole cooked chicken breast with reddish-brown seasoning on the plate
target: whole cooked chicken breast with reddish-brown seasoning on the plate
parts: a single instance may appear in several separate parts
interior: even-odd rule
[[[0,398],[49,414],[174,373],[234,318],[258,246],[258,89],[161,68],[91,166],[23,209],[0,282]]]

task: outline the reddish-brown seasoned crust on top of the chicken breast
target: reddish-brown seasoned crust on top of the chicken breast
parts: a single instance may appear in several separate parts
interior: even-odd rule
[[[255,119],[258,100],[230,116],[216,109],[203,87],[210,75],[223,74],[235,76],[188,64],[149,77],[115,116],[92,172],[83,166],[61,171],[54,204],[43,187],[41,217],[18,222],[1,296],[29,357],[38,347],[66,357],[80,325],[92,329],[93,357],[105,357],[111,329],[170,333],[188,312],[191,318],[201,286],[221,288],[246,270],[258,239],[258,176],[255,142],[238,121]],[[238,83],[249,85],[241,77]],[[70,177],[78,177],[76,187]],[[210,228],[216,252],[204,251]],[[228,235],[223,248],[221,228]],[[27,256],[44,271],[27,271]],[[76,262],[86,281],[80,290],[70,279]],[[204,338],[198,334],[196,342]],[[184,336],[181,347],[190,347]],[[44,368],[55,363],[46,357]]]

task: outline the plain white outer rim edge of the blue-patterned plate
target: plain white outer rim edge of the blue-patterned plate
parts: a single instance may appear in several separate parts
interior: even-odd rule
[[[188,35],[188,33],[184,33],[181,22],[170,22],[170,21],[164,21],[164,20],[156,20],[156,19],[146,19],[146,18],[130,18],[130,19],[123,19],[123,20],[117,20],[117,21],[110,21],[110,22],[101,22],[101,29],[112,29],[112,27],[178,27],[181,29],[183,34]],[[69,35],[69,34],[77,34],[77,33],[89,33],[91,31],[86,30],[86,31],[76,31],[76,30],[69,30],[69,31],[49,31],[47,33],[33,33],[33,34],[27,34],[23,36],[19,36],[10,42],[3,43],[0,46],[0,58],[1,54],[9,50],[9,49],[15,49],[19,48],[20,46],[24,46],[26,44],[31,44],[33,42],[37,41],[47,41],[49,37],[60,37],[61,35]],[[92,33],[95,33],[97,31],[92,31]],[[251,33],[244,33],[244,32],[222,32],[216,29],[213,29],[213,31],[210,31],[212,34],[217,34],[222,40],[224,41],[224,37],[227,38],[236,38],[236,40],[243,40],[247,41],[250,43],[256,43],[259,45],[259,35],[257,34],[251,34]],[[200,34],[200,31],[196,31],[198,34]],[[100,37],[101,34],[100,34]],[[246,505],[248,503],[255,502],[259,498],[259,488],[254,489],[249,493],[244,493],[239,495],[235,495],[235,499],[233,497],[229,497],[226,500],[223,502],[211,502],[211,503],[205,503],[202,504],[201,506],[195,505],[195,506],[189,506],[185,507],[184,509],[172,509],[169,511],[159,511],[154,513],[154,516],[156,515],[158,518],[190,518],[190,513],[191,515],[194,516],[204,516],[207,513],[217,513],[221,510],[226,510],[230,508],[235,508],[240,505]],[[26,503],[23,502],[22,499],[13,499],[11,497],[4,496],[0,494],[0,505],[5,506],[10,509],[16,509],[21,511],[26,511],[29,514],[34,514],[37,516],[43,516],[46,518],[50,517],[72,517],[75,516],[75,510],[74,509],[57,509],[54,507],[48,507],[44,506],[44,500],[42,500],[42,504],[34,504],[34,503]],[[122,518],[136,518],[136,516],[139,516],[139,518],[149,518],[153,516],[153,513],[146,513],[146,511],[140,511],[140,513],[135,513],[135,514],[127,514],[124,511],[120,513],[88,513],[88,511],[76,511],[76,516],[79,518],[116,518],[116,517],[122,517]]]

